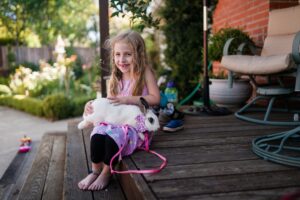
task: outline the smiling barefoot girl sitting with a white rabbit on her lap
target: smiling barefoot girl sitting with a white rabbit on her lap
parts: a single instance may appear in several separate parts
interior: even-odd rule
[[[158,105],[159,89],[148,65],[143,38],[137,32],[126,31],[112,38],[108,44],[112,58],[112,74],[107,92],[110,102],[139,105],[139,98],[143,96],[150,106]],[[91,102],[88,102],[84,114],[92,112]],[[129,127],[128,137],[130,143],[125,143],[124,133],[118,126],[99,124],[94,127],[90,149],[92,173],[78,183],[80,189],[101,190],[108,185],[111,177],[110,160],[121,145],[126,145],[122,156],[130,155],[142,145],[134,127]]]

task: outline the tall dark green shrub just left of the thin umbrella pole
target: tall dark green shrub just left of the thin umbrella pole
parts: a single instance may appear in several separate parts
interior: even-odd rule
[[[199,0],[166,0],[160,12],[165,20],[165,61],[172,68],[181,97],[192,91],[202,68],[202,10]]]

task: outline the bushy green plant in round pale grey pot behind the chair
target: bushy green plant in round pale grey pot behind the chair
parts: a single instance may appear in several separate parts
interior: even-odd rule
[[[208,58],[219,63],[223,56],[225,43],[230,38],[235,39],[231,43],[229,54],[236,53],[236,49],[243,42],[254,44],[248,34],[241,29],[223,28],[209,38]],[[216,65],[215,63],[214,65]],[[233,86],[229,87],[227,71],[222,68],[215,68],[211,72],[210,82],[210,99],[219,106],[241,106],[252,94],[252,86],[249,79],[245,79],[238,74],[234,76]]]

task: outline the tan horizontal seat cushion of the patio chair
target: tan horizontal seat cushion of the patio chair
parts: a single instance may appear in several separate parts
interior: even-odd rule
[[[236,73],[266,75],[279,73],[295,66],[290,54],[273,56],[228,55],[221,66]]]

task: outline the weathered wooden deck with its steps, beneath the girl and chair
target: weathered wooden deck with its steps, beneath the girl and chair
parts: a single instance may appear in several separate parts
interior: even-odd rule
[[[81,191],[77,183],[91,166],[90,130],[81,132],[76,125],[70,123],[66,135],[45,135],[31,170],[26,168],[29,175],[21,181],[13,175],[21,171],[14,163],[0,180],[0,199],[265,200],[300,189],[298,168],[268,162],[251,151],[253,138],[292,127],[256,125],[229,115],[186,116],[184,130],[157,133],[151,149],[168,159],[160,173],[118,175],[103,191]],[[146,152],[136,152],[120,167],[145,169],[160,162]],[[30,166],[18,164],[23,165]]]

